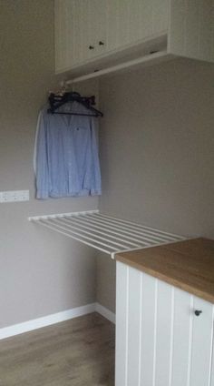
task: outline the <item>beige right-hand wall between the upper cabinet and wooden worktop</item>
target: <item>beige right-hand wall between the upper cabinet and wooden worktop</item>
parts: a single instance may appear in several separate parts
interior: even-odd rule
[[[177,60],[103,79],[103,212],[214,239],[214,66]],[[97,300],[114,310],[100,258]]]

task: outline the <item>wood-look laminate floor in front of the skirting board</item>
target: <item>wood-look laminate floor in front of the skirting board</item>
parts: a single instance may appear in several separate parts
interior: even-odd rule
[[[0,340],[0,386],[113,386],[114,326],[97,313]]]

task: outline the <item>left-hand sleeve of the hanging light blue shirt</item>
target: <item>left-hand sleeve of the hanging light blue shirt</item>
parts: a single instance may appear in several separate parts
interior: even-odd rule
[[[47,153],[47,125],[44,112],[38,117],[35,148],[36,198],[48,198],[49,173]]]

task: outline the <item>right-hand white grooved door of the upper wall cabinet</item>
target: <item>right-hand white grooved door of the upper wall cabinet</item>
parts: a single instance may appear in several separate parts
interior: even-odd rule
[[[107,0],[108,50],[166,33],[168,0]]]

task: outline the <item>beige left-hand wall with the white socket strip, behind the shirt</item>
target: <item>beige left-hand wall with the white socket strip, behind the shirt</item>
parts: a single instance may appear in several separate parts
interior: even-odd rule
[[[53,76],[53,1],[0,0],[0,190],[30,201],[0,204],[0,328],[95,299],[94,251],[40,229],[28,216],[97,208],[97,198],[34,199],[36,118]],[[84,90],[94,93],[96,84]]]

